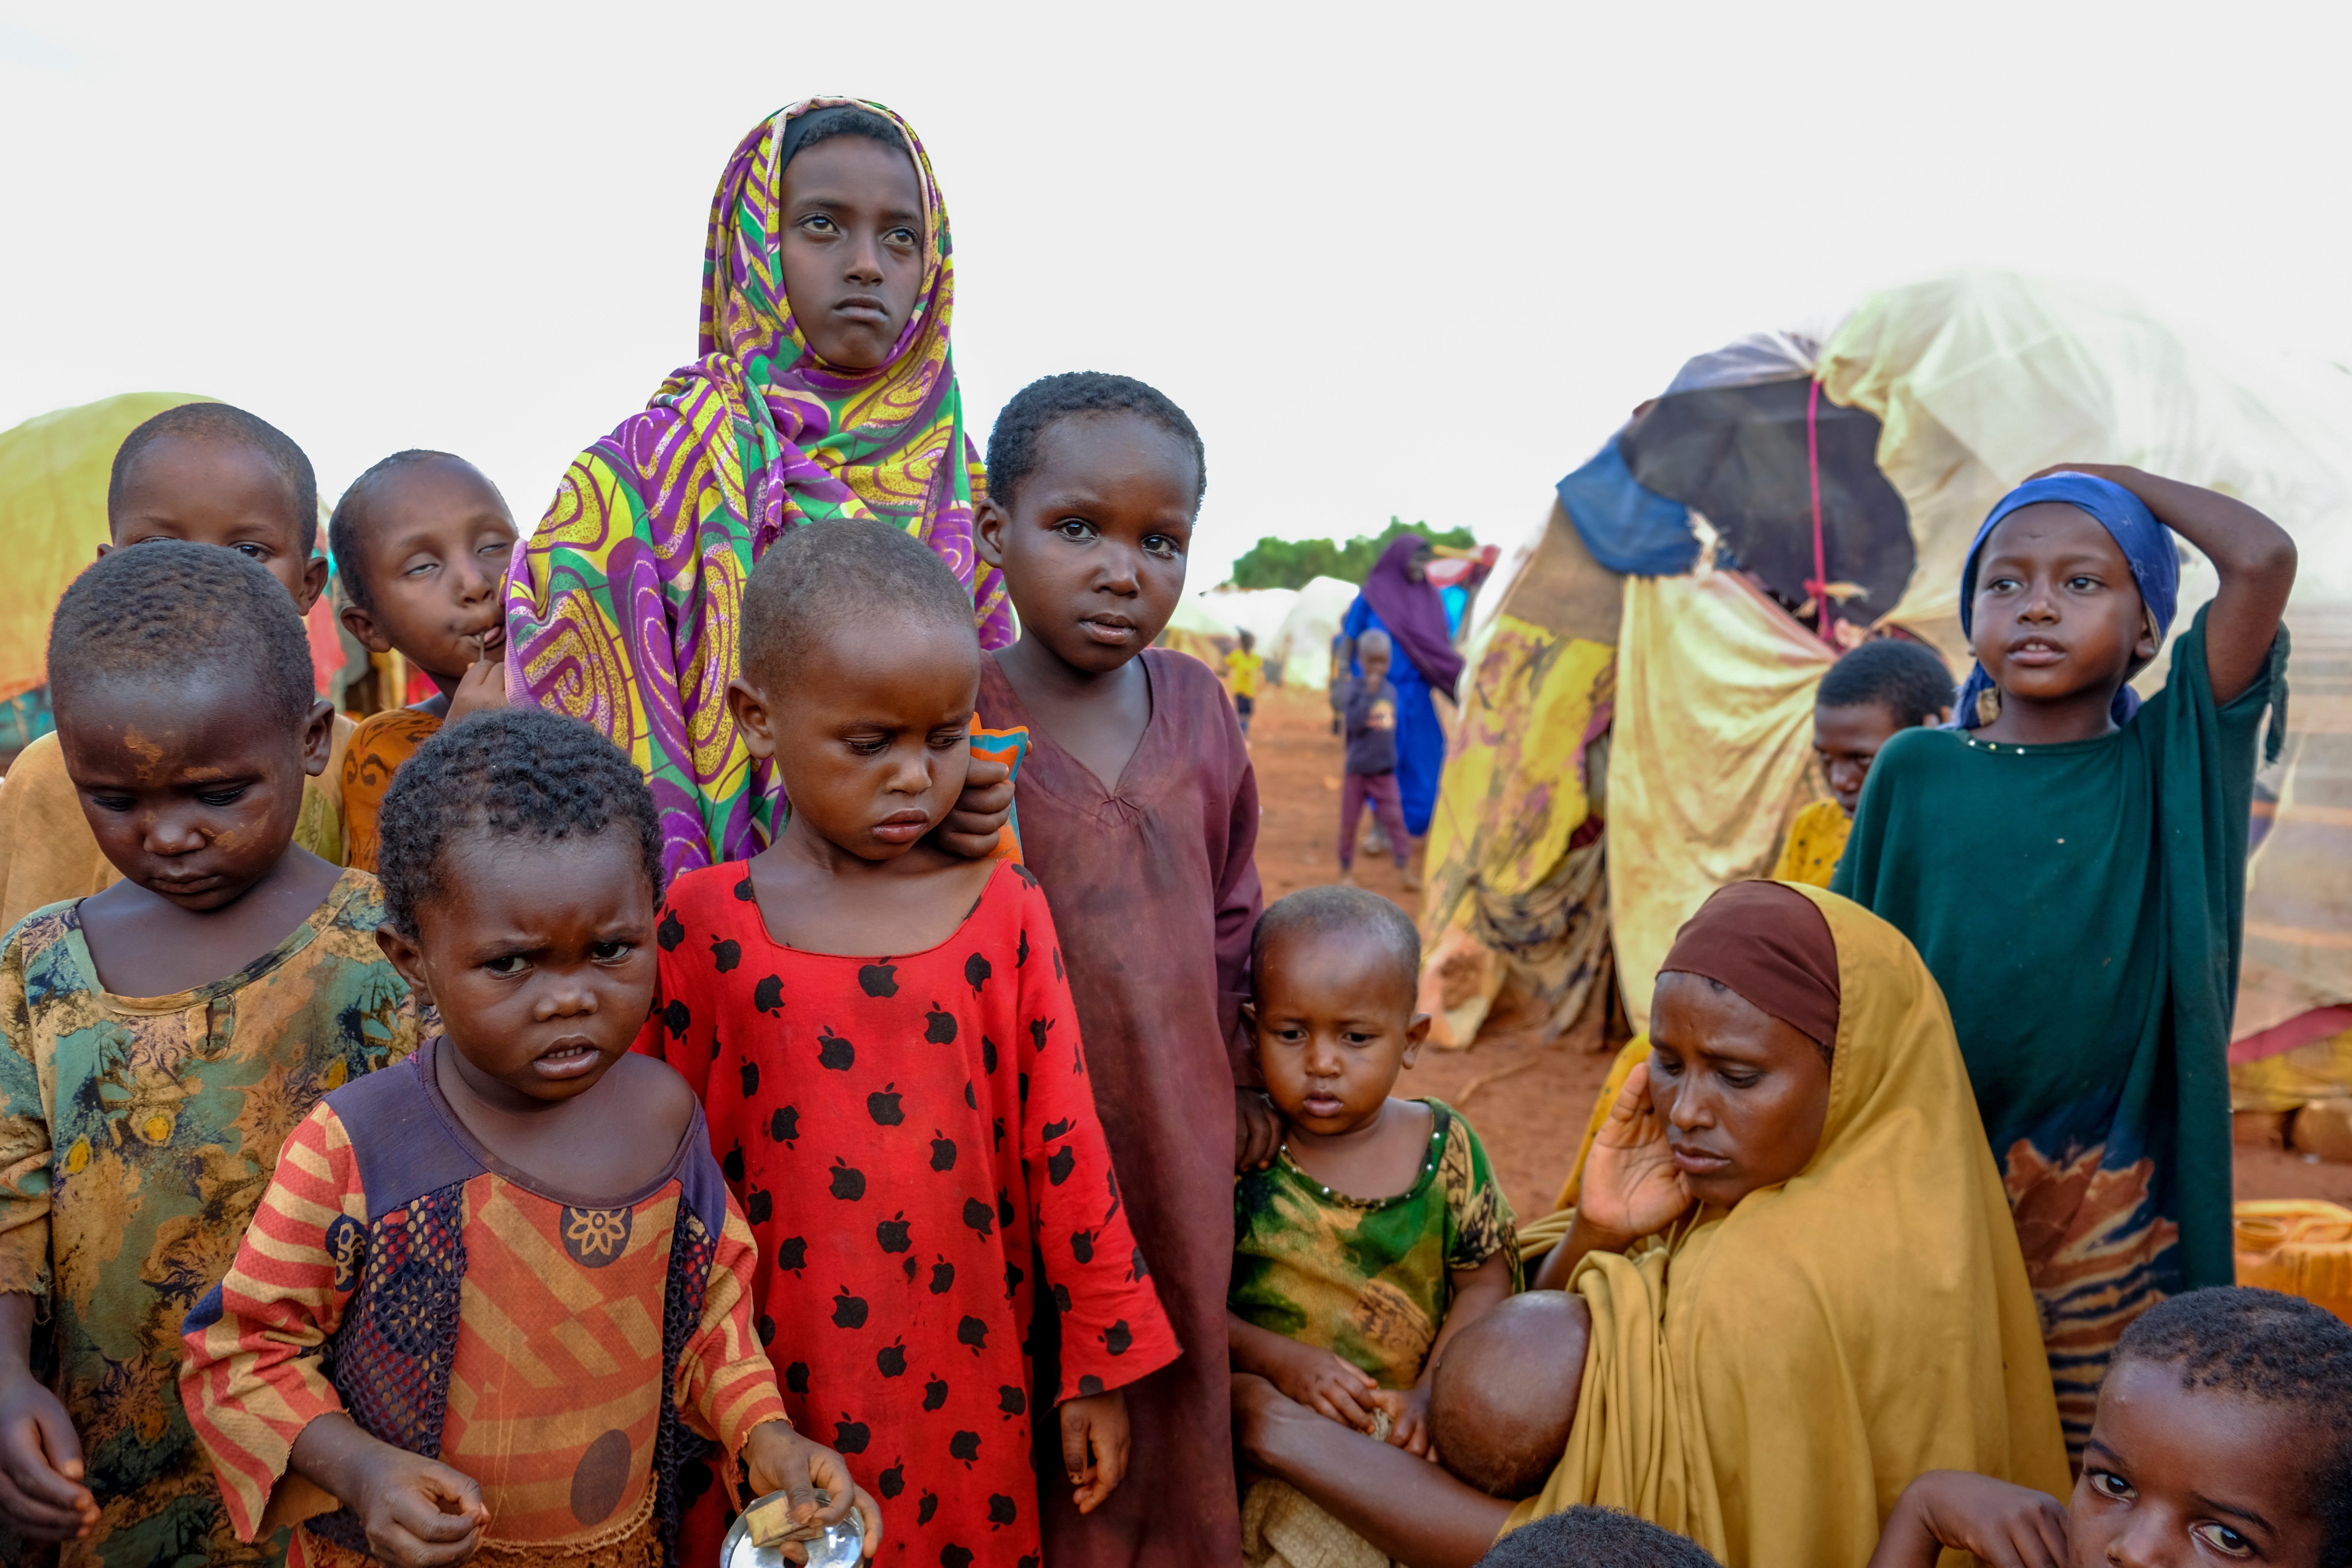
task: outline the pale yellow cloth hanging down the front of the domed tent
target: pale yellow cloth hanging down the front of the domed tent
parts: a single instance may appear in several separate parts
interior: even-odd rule
[[[1625,578],[1609,745],[1609,907],[1625,1011],[1708,893],[1764,877],[1823,799],[1813,686],[1830,649],[1733,571]]]

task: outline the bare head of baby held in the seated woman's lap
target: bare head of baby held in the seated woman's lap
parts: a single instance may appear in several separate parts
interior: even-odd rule
[[[1489,1497],[1531,1497],[1569,1448],[1590,1338],[1581,1295],[1529,1291],[1446,1340],[1430,1378],[1446,1469]]]

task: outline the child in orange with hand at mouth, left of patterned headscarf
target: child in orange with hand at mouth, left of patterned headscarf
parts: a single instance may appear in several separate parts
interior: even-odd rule
[[[515,520],[480,468],[447,451],[395,451],[343,491],[327,524],[343,571],[343,628],[369,654],[400,651],[437,696],[369,715],[343,757],[350,865],[376,870],[376,816],[393,773],[468,712],[506,705],[499,585]]]

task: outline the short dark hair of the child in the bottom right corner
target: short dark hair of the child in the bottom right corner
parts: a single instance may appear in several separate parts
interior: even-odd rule
[[[2326,1526],[2326,1563],[2352,1561],[2352,1324],[2279,1291],[2187,1291],[2143,1312],[2114,1347],[2129,1363],[2180,1375],[2185,1392],[2277,1406],[2310,1436],[2310,1512]],[[2286,1458],[2286,1455],[2281,1455]]]

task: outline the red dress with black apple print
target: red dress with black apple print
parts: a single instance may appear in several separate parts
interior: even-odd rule
[[[1033,1415],[1178,1354],[1037,879],[1007,860],[938,947],[856,959],[776,943],[743,865],[713,865],[670,884],[659,943],[637,1048],[703,1100],[793,1425],[882,1500],[884,1561],[1035,1568]],[[1044,1399],[1040,1258],[1068,1347]],[[691,1537],[722,1523],[720,1493]]]

